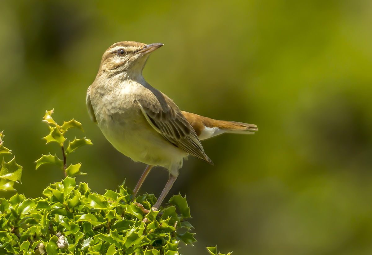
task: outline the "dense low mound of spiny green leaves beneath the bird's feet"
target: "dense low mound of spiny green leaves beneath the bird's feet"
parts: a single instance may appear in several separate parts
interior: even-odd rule
[[[67,177],[49,185],[46,198],[0,199],[0,253],[34,254],[42,243],[48,254],[179,254],[179,241],[195,241],[176,205],[153,212],[153,195],[133,202],[131,193],[120,186],[100,195]],[[65,248],[59,239],[67,242]]]

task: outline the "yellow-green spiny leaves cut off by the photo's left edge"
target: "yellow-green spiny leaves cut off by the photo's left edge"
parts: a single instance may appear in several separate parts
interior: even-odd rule
[[[4,160],[5,155],[11,155],[12,151],[4,145],[3,131],[0,133],[0,156],[3,156],[0,165],[0,190],[15,190],[13,185],[21,181],[22,167],[16,163],[15,156],[9,162]]]

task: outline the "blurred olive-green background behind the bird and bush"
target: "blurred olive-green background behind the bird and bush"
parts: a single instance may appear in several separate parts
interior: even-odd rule
[[[86,90],[111,44],[161,42],[151,85],[180,109],[259,127],[203,142],[214,167],[185,162],[171,193],[186,195],[199,242],[181,252],[371,254],[371,24],[370,0],[2,1],[0,130],[24,166],[16,188],[38,197],[63,177],[33,163],[56,149],[41,140],[52,108],[94,143],[71,156],[88,173],[78,181],[134,188],[145,165],[91,122]],[[140,192],[158,196],[167,177],[155,168]]]

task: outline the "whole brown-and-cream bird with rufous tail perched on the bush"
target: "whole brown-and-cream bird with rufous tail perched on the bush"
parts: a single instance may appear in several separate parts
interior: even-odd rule
[[[142,70],[162,43],[122,41],[103,54],[99,71],[87,90],[90,118],[122,154],[147,164],[134,192],[154,166],[167,168],[169,179],[152,207],[160,209],[182,167],[192,155],[213,165],[202,140],[222,133],[251,134],[253,124],[210,119],[181,111],[176,103],[145,81]]]

